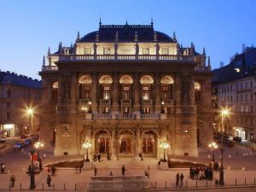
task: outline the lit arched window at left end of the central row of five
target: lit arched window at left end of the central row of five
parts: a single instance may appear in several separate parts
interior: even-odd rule
[[[90,99],[90,76],[83,75],[79,78],[79,99]]]

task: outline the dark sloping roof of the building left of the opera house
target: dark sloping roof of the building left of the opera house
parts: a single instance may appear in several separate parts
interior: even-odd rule
[[[24,75],[18,75],[17,73],[10,73],[9,71],[0,71],[0,85],[2,84],[18,85],[32,89],[41,89],[41,81],[38,79],[28,78]]]

